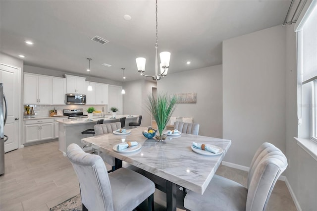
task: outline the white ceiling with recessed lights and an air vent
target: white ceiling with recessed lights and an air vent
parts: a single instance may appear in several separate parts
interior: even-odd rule
[[[158,52],[171,53],[168,73],[221,64],[223,40],[282,24],[289,5],[290,0],[159,0]],[[123,19],[125,14],[132,19]],[[154,0],[0,1],[0,51],[25,55],[25,65],[71,74],[88,76],[88,57],[91,76],[121,81],[124,67],[125,81],[143,79],[136,57],[147,59],[145,74],[155,74],[155,27]],[[96,35],[109,42],[92,41]]]

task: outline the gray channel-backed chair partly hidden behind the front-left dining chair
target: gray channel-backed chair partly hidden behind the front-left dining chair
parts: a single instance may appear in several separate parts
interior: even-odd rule
[[[120,129],[120,128],[121,128],[120,122],[112,122],[112,123],[98,124],[98,125],[96,124],[94,126],[96,136],[112,133],[113,131]],[[94,151],[99,156],[101,156],[106,163],[111,165],[111,170],[109,170],[109,172],[115,170],[115,158],[114,157],[112,157],[110,155],[106,155],[105,153],[103,153],[100,150],[94,150]]]

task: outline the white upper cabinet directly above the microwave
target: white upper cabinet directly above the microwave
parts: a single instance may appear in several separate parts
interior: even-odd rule
[[[70,94],[86,95],[86,78],[65,75],[66,76],[66,92]]]

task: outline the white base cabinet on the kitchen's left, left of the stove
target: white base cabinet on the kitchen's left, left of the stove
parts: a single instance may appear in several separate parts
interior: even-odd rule
[[[34,119],[25,121],[25,143],[53,139],[53,119]]]

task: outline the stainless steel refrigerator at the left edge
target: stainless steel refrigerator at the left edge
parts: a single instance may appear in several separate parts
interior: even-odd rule
[[[4,135],[4,125],[7,117],[7,105],[3,93],[3,83],[0,83],[0,175],[4,174],[4,142],[8,137]]]

